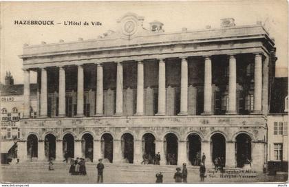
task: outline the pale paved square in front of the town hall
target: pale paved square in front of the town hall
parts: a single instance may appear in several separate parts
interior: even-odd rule
[[[1,165],[1,181],[11,183],[96,183],[97,171],[96,164],[87,164],[87,175],[69,175],[69,164],[55,164],[55,170],[48,170],[48,165],[43,163],[29,165]],[[158,167],[147,166],[142,170],[142,166],[114,166],[106,164],[104,170],[105,183],[154,183],[156,173],[162,171],[164,183],[173,183],[173,174],[175,166]],[[199,173],[197,168],[189,169],[188,182],[199,183]],[[245,177],[244,177],[245,176]],[[255,177],[252,177],[255,176]],[[253,175],[223,175],[220,173],[207,173],[204,182],[207,183],[251,183],[251,182],[273,182],[286,181],[288,175],[269,176],[262,173]]]

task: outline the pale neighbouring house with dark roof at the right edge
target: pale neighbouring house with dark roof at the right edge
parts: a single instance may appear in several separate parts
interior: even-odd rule
[[[288,77],[275,78],[268,114],[268,162],[288,171]]]

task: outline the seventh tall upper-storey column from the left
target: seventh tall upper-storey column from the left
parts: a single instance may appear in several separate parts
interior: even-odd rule
[[[138,62],[136,115],[144,115],[144,64],[141,61]]]

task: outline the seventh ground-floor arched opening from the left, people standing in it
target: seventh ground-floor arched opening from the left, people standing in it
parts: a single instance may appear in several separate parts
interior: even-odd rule
[[[142,136],[142,157],[147,164],[153,164],[156,155],[156,138],[151,133],[145,133]]]

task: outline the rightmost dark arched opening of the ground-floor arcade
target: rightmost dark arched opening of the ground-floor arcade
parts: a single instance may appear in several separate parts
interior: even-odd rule
[[[237,167],[242,168],[245,164],[250,164],[252,162],[252,150],[251,150],[251,138],[245,133],[239,134],[236,137],[236,158]]]

